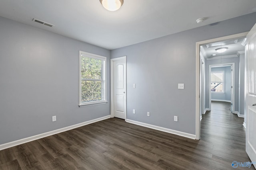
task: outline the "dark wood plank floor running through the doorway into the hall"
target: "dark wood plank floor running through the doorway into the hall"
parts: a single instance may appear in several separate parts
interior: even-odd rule
[[[250,160],[244,119],[228,108],[223,102],[212,104],[203,115],[200,141],[112,118],[2,150],[0,169],[231,170],[233,161]]]

